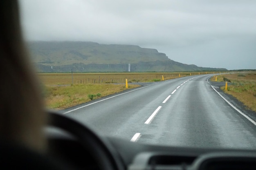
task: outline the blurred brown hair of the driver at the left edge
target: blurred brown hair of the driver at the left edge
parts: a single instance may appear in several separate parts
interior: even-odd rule
[[[0,139],[44,150],[46,114],[22,38],[17,0],[1,0],[0,11]]]

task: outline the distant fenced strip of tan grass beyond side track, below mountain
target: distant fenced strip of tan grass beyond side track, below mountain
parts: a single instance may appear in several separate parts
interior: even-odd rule
[[[67,84],[105,84],[128,82],[155,82],[174,79],[207,72],[197,73],[39,73],[38,76],[45,85],[67,85]],[[208,72],[213,73],[213,72]]]

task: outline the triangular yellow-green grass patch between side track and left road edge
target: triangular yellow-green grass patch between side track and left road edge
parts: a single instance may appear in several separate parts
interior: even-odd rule
[[[128,88],[139,85],[130,84]],[[91,101],[88,95],[104,97],[126,90],[125,84],[74,84],[68,86],[45,86],[44,96],[47,108],[65,109]],[[95,98],[99,98],[95,97]]]

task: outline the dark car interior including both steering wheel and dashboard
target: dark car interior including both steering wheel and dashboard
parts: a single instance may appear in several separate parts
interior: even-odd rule
[[[10,0],[11,2],[16,2]],[[1,1],[1,6],[9,0]],[[16,4],[16,3],[14,3]],[[15,5],[14,5],[15,6]],[[9,6],[6,6],[9,7]],[[11,10],[11,9],[10,9]],[[14,7],[13,10],[16,10]],[[1,14],[3,15],[3,14]],[[1,27],[7,25],[1,25]],[[8,26],[7,26],[8,27]],[[8,27],[11,29],[11,27]],[[1,29],[2,30],[2,29]],[[2,34],[3,32],[1,32]],[[5,46],[1,40],[1,46]],[[1,47],[3,49],[3,47]],[[8,50],[7,50],[8,51]],[[3,55],[7,56],[8,55]],[[2,91],[3,89],[1,89]],[[19,98],[20,96],[18,96]],[[23,99],[20,97],[20,99]],[[29,105],[28,105],[29,106]],[[14,106],[13,106],[14,107]],[[0,169],[74,170],[253,170],[256,151],[233,148],[156,146],[103,137],[55,110],[47,110],[43,132],[48,147],[40,153],[0,137]],[[4,115],[4,110],[1,110]],[[3,117],[1,116],[0,119]],[[2,119],[2,121],[4,121]],[[1,121],[1,122],[2,122]],[[27,122],[30,124],[31,122]],[[1,128],[1,126],[0,126]],[[32,128],[32,127],[29,127]],[[32,140],[36,136],[31,136]]]

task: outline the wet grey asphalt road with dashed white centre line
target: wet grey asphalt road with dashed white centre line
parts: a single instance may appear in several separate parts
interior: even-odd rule
[[[256,126],[197,75],[146,84],[64,110],[99,135],[157,145],[256,148]]]

